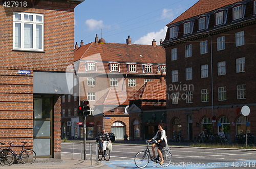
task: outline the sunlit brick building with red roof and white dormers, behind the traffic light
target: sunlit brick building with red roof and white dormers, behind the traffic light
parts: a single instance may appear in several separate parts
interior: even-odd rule
[[[80,47],[76,44],[74,67],[79,86],[74,93],[80,97],[74,107],[66,104],[67,96],[65,103],[62,101],[62,130],[66,129],[66,135],[71,132],[71,137],[83,137],[82,127],[77,125],[82,120],[72,111],[80,100],[89,100],[91,112],[97,116],[87,117],[87,137],[97,136],[104,126],[117,138],[123,138],[129,135],[128,99],[145,82],[160,81],[160,72],[165,75],[165,50],[155,40],[152,45],[138,45],[132,44],[129,36],[126,43],[105,43],[96,35],[94,42],[81,42]],[[69,108],[71,116],[67,114]]]

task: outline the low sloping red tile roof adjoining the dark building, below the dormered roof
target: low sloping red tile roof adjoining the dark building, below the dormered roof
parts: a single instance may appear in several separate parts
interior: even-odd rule
[[[166,86],[160,82],[148,81],[130,99],[131,100],[166,100]]]

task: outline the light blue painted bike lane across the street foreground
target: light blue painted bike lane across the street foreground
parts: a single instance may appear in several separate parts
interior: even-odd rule
[[[121,167],[125,169],[138,168],[134,160],[117,160],[103,162],[109,167],[116,168]],[[229,162],[212,162],[212,163],[170,163],[167,167],[162,167],[160,164],[150,163],[145,167],[146,169],[152,168],[176,168],[176,169],[203,169],[203,168],[228,168],[228,167],[245,167],[245,168],[256,168],[256,160],[243,160],[243,161],[229,161]]]

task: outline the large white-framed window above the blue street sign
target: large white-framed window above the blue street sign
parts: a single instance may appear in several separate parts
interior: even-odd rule
[[[44,14],[13,12],[13,49],[44,50]]]

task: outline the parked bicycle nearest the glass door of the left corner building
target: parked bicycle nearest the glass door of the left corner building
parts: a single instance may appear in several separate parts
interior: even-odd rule
[[[8,144],[10,144],[9,148],[6,150],[11,151],[11,153],[14,155],[14,159],[16,159],[18,162],[22,161],[25,164],[32,164],[35,159],[36,159],[36,153],[31,150],[31,149],[26,149],[25,144],[27,144],[28,142],[22,142],[23,145],[22,146],[12,146],[14,142],[10,142]],[[22,147],[22,150],[20,150],[19,155],[16,154],[13,150],[12,147]],[[14,162],[14,160],[12,161],[12,163]],[[11,163],[11,164],[12,164]],[[10,164],[10,165],[11,165]]]

